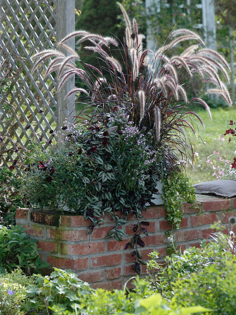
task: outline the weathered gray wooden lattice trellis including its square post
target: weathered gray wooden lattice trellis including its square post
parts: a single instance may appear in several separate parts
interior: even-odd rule
[[[55,46],[56,30],[58,38],[74,30],[73,12],[74,0],[0,1],[0,165],[11,165],[14,151],[32,137],[48,141],[49,130],[64,120],[59,114],[66,117],[73,108],[73,99],[63,101],[68,87],[57,95],[54,74],[45,78],[45,64],[30,74],[31,56]]]

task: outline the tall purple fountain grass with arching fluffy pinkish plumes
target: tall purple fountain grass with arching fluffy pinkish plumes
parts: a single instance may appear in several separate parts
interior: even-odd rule
[[[210,108],[200,93],[188,99],[187,93],[194,87],[185,84],[185,79],[197,77],[200,82],[210,86],[206,94],[216,93],[231,106],[230,95],[219,75],[221,72],[229,81],[227,70],[230,71],[230,68],[224,57],[212,49],[204,48],[202,39],[188,29],[173,30],[168,43],[156,51],[145,49],[145,36],[139,33],[136,20],[129,19],[121,4],[120,8],[126,24],[121,48],[113,37],[103,37],[84,30],[74,31],[58,43],[57,49],[35,54],[37,61],[32,72],[43,60],[52,58],[46,75],[58,71],[61,79],[58,89],[75,74],[85,89],[74,88],[65,99],[72,93],[81,92],[81,104],[86,106],[78,117],[86,116],[89,123],[103,122],[104,113],[111,112],[113,106],[125,104],[129,120],[135,126],[140,130],[145,128],[147,132],[155,131],[152,145],[162,147],[162,162],[172,167],[179,159],[186,159],[189,153],[192,155],[187,131],[195,133],[193,119],[199,119],[202,123],[200,117],[191,110],[191,104],[202,104],[211,117]],[[85,49],[98,53],[99,60],[103,60],[101,67],[85,63],[77,52],[66,45],[66,41],[72,37],[79,38],[77,44],[84,41],[91,43]],[[171,50],[183,41],[195,41],[197,44],[190,45],[180,55],[170,55]],[[120,61],[113,58],[112,46],[121,52]],[[104,68],[110,75],[109,81],[103,75]]]

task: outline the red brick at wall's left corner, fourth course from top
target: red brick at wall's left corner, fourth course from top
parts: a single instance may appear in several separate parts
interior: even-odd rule
[[[88,268],[88,258],[79,258],[76,260],[61,258],[61,257],[47,257],[47,262],[53,267],[62,268],[62,269],[85,269]]]

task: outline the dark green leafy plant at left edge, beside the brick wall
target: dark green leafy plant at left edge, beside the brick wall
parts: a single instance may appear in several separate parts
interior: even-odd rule
[[[0,225],[0,272],[18,266],[26,273],[40,272],[41,268],[49,266],[38,256],[37,240],[30,239],[25,230],[21,224],[9,228]]]

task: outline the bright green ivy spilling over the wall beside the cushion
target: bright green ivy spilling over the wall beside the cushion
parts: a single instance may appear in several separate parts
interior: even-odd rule
[[[167,211],[166,218],[172,227],[178,229],[184,215],[182,202],[195,203],[195,188],[180,170],[172,172],[171,175],[163,178],[162,182],[164,183],[162,198]]]

